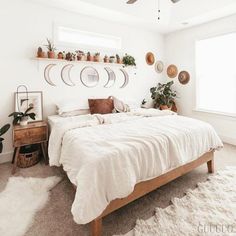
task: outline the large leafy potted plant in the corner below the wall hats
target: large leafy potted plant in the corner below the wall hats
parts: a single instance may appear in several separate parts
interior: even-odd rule
[[[177,92],[173,91],[171,88],[173,84],[174,81],[170,81],[166,84],[158,83],[157,87],[150,89],[155,108],[171,110],[172,106],[175,104],[174,100],[177,97]]]

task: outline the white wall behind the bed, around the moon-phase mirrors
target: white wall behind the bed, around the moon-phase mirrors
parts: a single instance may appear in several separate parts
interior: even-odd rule
[[[55,103],[65,99],[84,101],[88,97],[107,97],[116,95],[120,98],[135,99],[141,102],[148,94],[149,88],[161,80],[153,67],[145,63],[145,54],[153,51],[158,59],[163,60],[163,36],[158,33],[128,27],[118,23],[78,15],[72,12],[54,9],[26,0],[3,1],[0,8],[1,22],[1,102],[0,124],[11,122],[8,118],[13,109],[13,94],[16,87],[25,84],[31,91],[43,91],[44,117],[55,113]],[[102,87],[106,74],[101,74],[103,81],[95,88],[85,88],[75,75],[77,85],[67,87],[59,78],[59,70],[53,79],[57,87],[49,86],[43,78],[43,63],[31,60],[39,45],[45,44],[46,37],[53,37],[53,25],[63,22],[77,25],[79,29],[122,37],[122,52],[130,53],[136,58],[136,76],[132,76],[125,89],[117,86],[110,89]],[[97,68],[101,71],[101,67]],[[132,72],[133,73],[133,72]],[[104,78],[103,78],[104,77]],[[11,132],[5,136],[4,151],[0,162],[8,161],[12,155]]]

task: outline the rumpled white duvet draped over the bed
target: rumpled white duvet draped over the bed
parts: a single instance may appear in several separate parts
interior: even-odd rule
[[[59,122],[49,140],[50,165],[63,165],[77,186],[75,222],[98,217],[138,182],[157,177],[223,144],[209,124],[172,112],[136,110]]]

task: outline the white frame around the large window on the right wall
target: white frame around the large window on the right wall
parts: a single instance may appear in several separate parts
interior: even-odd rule
[[[196,47],[196,45],[199,41],[207,40],[207,39],[211,39],[211,38],[217,38],[217,37],[221,37],[221,36],[229,35],[229,34],[236,34],[236,29],[230,30],[230,31],[229,30],[222,30],[217,33],[207,34],[203,37],[199,37],[194,40],[194,54],[195,54],[194,55],[194,68],[195,68],[195,73],[194,73],[195,74],[195,90],[194,90],[195,95],[194,95],[194,98],[195,98],[195,101],[194,101],[194,109],[193,109],[194,112],[202,112],[205,114],[220,115],[220,116],[225,116],[225,117],[230,117],[230,118],[236,119],[236,112],[235,113],[228,113],[228,112],[222,112],[222,111],[215,111],[215,110],[203,109],[198,106],[199,80],[197,77],[197,47]]]

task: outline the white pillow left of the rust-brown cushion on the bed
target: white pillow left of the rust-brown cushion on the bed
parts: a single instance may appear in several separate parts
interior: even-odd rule
[[[83,104],[81,101],[61,101],[56,104],[57,106],[57,112],[59,115],[62,115],[66,112],[74,112],[74,111],[80,111],[80,110],[87,110],[89,109],[88,103]]]

